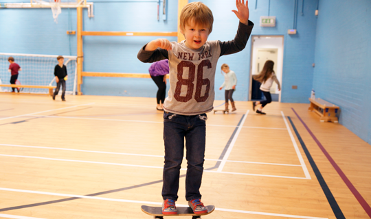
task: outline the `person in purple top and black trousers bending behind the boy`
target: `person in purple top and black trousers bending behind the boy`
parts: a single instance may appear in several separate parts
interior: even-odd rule
[[[157,90],[157,110],[164,110],[163,105],[166,95],[166,75],[169,73],[169,60],[154,62],[148,69],[150,77],[155,81]]]

